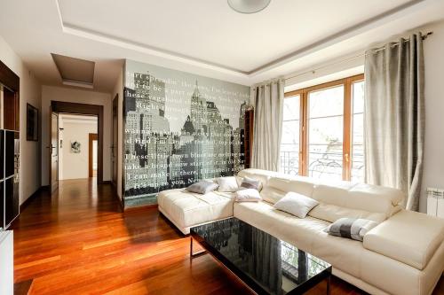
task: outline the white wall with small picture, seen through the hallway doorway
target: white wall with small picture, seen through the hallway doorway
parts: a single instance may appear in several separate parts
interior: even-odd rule
[[[62,161],[59,169],[62,171],[60,180],[89,177],[89,141],[90,133],[97,134],[97,120],[66,120],[63,119],[63,144],[59,150]],[[71,151],[72,142],[80,143],[80,152]]]

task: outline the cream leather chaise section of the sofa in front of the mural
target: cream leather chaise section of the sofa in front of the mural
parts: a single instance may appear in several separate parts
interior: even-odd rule
[[[216,221],[233,215],[233,198],[229,194],[210,191],[204,195],[183,189],[163,190],[157,196],[158,205],[180,227]]]

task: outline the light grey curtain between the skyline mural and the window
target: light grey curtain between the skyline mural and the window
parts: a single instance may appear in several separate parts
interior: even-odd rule
[[[278,171],[282,134],[284,81],[279,79],[252,89],[254,110],[251,167]]]

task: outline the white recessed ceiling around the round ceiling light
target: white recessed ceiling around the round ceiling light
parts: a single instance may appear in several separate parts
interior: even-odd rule
[[[123,58],[251,85],[444,18],[442,0],[272,0],[250,15],[226,0],[0,1],[0,35],[41,82],[61,85],[57,53],[96,62],[104,92]]]

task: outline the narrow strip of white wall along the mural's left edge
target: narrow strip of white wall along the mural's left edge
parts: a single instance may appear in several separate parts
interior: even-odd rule
[[[115,89],[112,94],[112,98],[114,99],[115,95],[118,95],[118,142],[117,142],[117,195],[119,198],[122,198],[122,162],[123,162],[123,68],[115,82]],[[112,103],[111,103],[112,104]],[[112,116],[112,105],[111,105],[111,116]],[[112,125],[111,125],[112,126]],[[111,167],[112,169],[112,167]],[[112,171],[111,171],[112,172]]]

